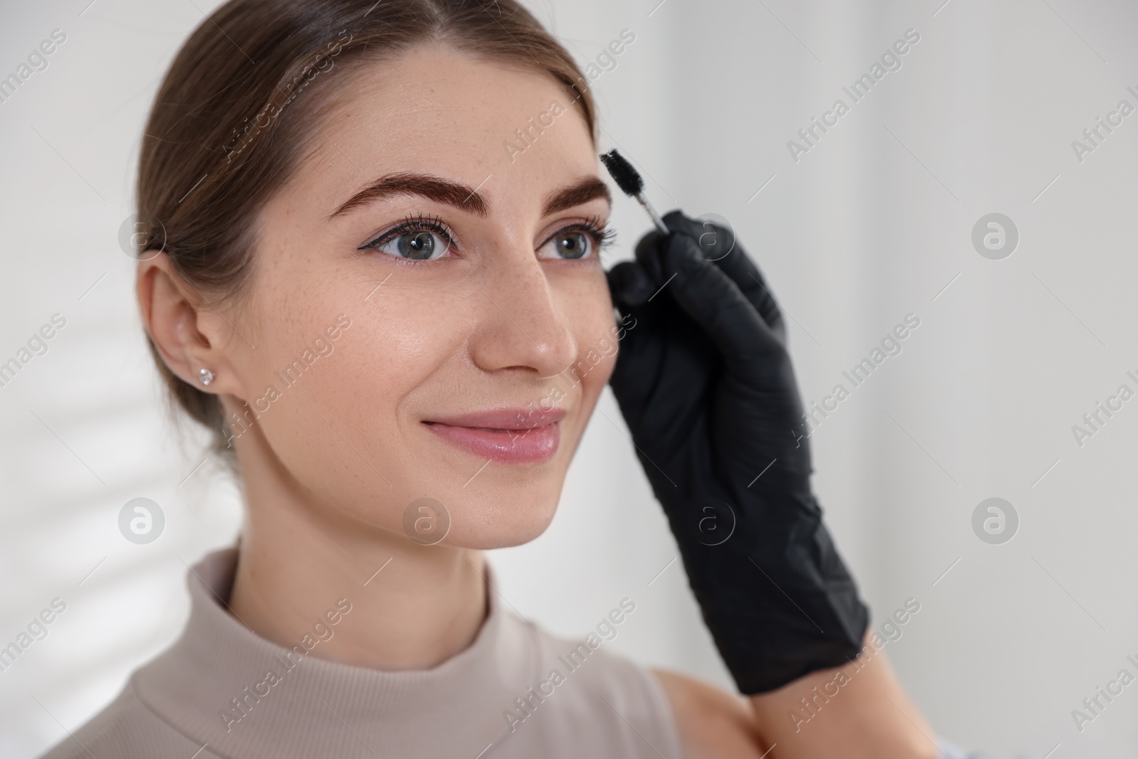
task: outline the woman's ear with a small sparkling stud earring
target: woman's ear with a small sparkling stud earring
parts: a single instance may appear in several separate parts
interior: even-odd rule
[[[205,393],[247,397],[233,352],[245,341],[230,320],[158,253],[139,262],[135,292],[142,324],[175,376]],[[236,340],[234,340],[236,338]],[[209,385],[201,370],[212,372]]]

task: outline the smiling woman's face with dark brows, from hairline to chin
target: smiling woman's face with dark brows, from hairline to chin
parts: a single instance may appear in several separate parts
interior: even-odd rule
[[[427,497],[448,544],[529,541],[616,355],[588,130],[549,77],[446,47],[336,86],[258,218],[233,445],[325,515],[402,534]]]

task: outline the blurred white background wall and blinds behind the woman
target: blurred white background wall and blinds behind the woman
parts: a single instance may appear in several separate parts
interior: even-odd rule
[[[158,81],[217,3],[89,2],[0,3],[0,76],[66,34],[0,104],[0,362],[66,319],[0,387],[0,646],[67,604],[0,673],[0,754],[17,759],[174,640],[183,562],[239,523],[232,484],[166,420],[117,241]],[[806,402],[849,388],[843,370],[921,320],[811,440],[874,624],[921,603],[887,647],[905,685],[941,735],[993,758],[1135,756],[1138,686],[1081,732],[1071,711],[1138,674],[1138,401],[1081,447],[1071,428],[1120,385],[1138,390],[1138,115],[1082,160],[1072,140],[1120,100],[1138,107],[1138,6],[658,3],[529,5],[583,65],[635,34],[594,84],[601,147],[641,166],[661,212],[734,224],[790,316]],[[920,42],[900,69],[851,105],[842,86],[907,30]],[[839,98],[850,112],[795,162],[787,140]],[[1020,236],[998,261],[972,244],[993,212]],[[645,217],[620,200],[615,222],[627,254]],[[729,686],[608,393],[600,412],[550,530],[492,555],[501,589],[562,635],[630,596],[615,650]],[[166,515],[149,545],[117,529],[139,496]],[[1000,545],[972,527],[993,496],[1020,519]]]

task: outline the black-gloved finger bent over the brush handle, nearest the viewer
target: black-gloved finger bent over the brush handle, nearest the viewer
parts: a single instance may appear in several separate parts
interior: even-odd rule
[[[700,256],[694,240],[670,236],[660,263],[676,303],[716,345],[728,370],[759,387],[793,383],[782,340],[739,286]]]

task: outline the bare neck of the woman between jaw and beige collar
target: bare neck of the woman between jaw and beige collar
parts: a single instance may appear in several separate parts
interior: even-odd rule
[[[245,465],[229,608],[254,633],[287,647],[308,635],[312,655],[386,670],[435,667],[475,640],[487,612],[480,551],[423,546],[328,513]]]

